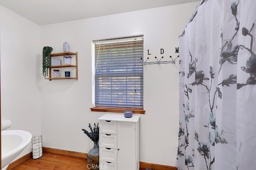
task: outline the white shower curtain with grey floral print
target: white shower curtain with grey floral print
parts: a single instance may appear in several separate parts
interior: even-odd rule
[[[256,169],[256,1],[205,0],[180,41],[179,170]]]

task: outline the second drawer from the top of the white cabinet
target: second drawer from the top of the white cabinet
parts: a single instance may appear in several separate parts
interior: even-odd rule
[[[100,133],[100,147],[116,148],[116,135]]]

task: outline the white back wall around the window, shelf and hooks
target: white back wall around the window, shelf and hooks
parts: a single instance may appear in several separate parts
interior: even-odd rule
[[[42,26],[41,49],[62,52],[68,41],[78,51],[78,81],[41,76],[42,135],[45,147],[88,152],[92,141],[81,128],[104,113],[92,107],[92,40],[144,35],[144,60],[176,57],[178,36],[198,2]],[[160,55],[160,49],[164,54]],[[151,55],[147,55],[150,49]],[[41,68],[38,68],[41,70]],[[140,120],[140,161],[175,166],[178,145],[178,62],[144,68],[144,109]]]

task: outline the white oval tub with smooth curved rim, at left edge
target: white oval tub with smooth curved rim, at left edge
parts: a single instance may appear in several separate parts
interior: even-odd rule
[[[32,135],[27,131],[7,130],[1,131],[2,166],[6,169],[26,146],[31,142]]]

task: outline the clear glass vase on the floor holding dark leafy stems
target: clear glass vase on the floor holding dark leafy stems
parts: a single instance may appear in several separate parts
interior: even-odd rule
[[[99,170],[99,141],[94,142],[94,147],[87,154],[87,162],[90,170]]]

